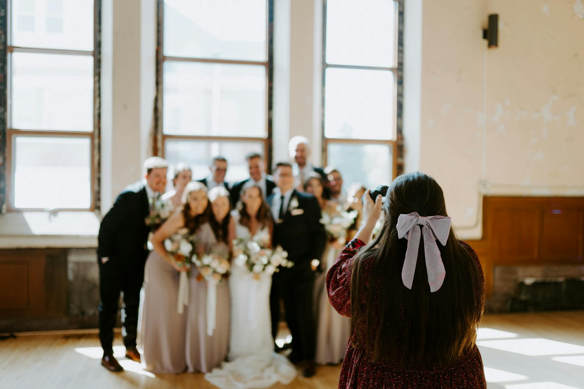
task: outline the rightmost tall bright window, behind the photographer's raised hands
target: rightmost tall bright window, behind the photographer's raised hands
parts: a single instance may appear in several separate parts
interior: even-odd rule
[[[324,0],[323,155],[346,183],[397,171],[398,1]]]

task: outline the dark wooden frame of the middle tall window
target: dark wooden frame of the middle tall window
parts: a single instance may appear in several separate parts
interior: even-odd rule
[[[210,59],[197,57],[172,57],[164,54],[164,0],[157,1],[158,10],[158,34],[157,34],[157,66],[156,85],[157,97],[155,103],[155,134],[152,142],[152,155],[165,157],[166,139],[185,141],[240,141],[263,143],[263,157],[266,161],[267,173],[270,173],[272,166],[272,106],[273,106],[273,20],[274,20],[274,0],[266,2],[266,61],[249,61],[237,59]],[[164,104],[164,62],[199,62],[207,64],[228,64],[228,65],[261,65],[266,68],[266,132],[265,136],[214,136],[214,135],[171,135],[165,134],[162,128],[162,115]]]

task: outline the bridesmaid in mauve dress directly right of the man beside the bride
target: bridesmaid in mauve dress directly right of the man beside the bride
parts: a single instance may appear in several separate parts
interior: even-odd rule
[[[324,185],[320,176],[308,176],[304,191],[312,194],[318,199],[322,212],[333,216],[339,212],[338,204],[334,201],[322,198]],[[345,243],[345,242],[343,242]],[[347,342],[351,330],[349,318],[340,316],[331,306],[326,293],[326,272],[335,263],[336,257],[344,247],[338,241],[327,241],[324,254],[322,254],[320,268],[326,270],[317,275],[314,283],[314,306],[317,318],[317,352],[315,362],[326,365],[327,363],[337,364],[345,358]]]

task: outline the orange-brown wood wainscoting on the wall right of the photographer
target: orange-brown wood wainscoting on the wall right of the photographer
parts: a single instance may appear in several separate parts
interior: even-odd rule
[[[483,239],[468,240],[493,293],[495,266],[584,265],[584,197],[485,197]]]

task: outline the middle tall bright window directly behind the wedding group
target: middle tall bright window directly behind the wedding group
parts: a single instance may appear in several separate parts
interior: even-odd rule
[[[272,0],[164,0],[161,11],[164,157],[199,179],[224,156],[226,181],[248,177],[247,153],[269,162]]]

